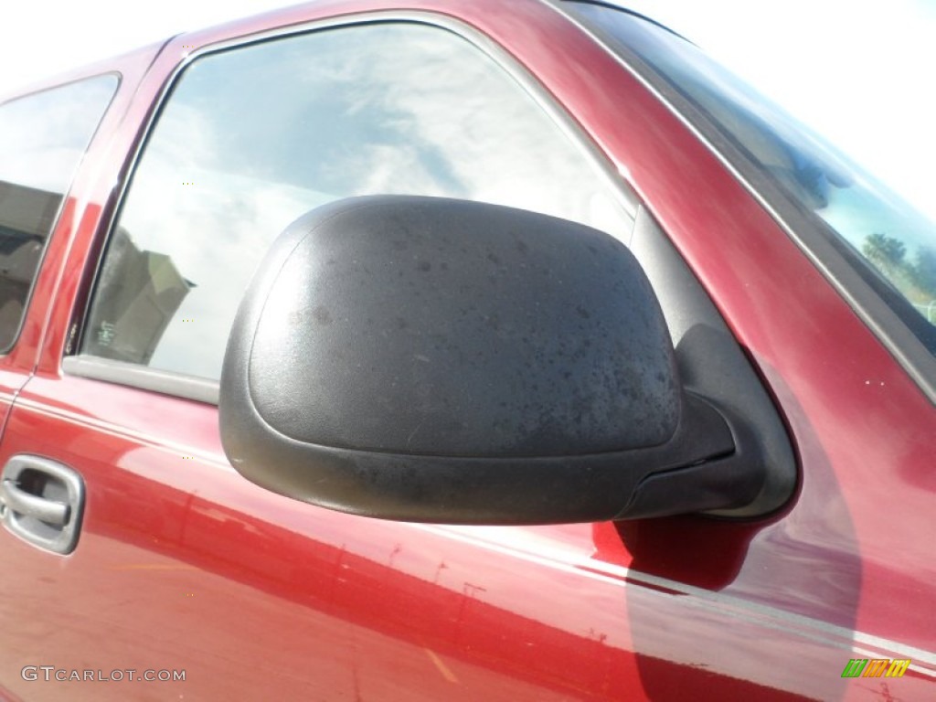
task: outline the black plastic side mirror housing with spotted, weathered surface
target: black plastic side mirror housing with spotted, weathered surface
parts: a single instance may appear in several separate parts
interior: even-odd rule
[[[233,466],[372,517],[593,521],[745,505],[634,256],[494,205],[359,197],[271,247],[221,378]]]

